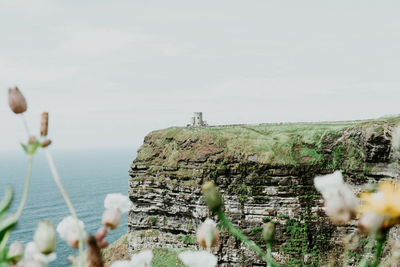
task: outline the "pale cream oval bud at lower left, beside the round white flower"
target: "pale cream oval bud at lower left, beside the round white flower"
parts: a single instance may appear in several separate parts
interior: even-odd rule
[[[44,220],[38,223],[33,236],[36,246],[43,254],[50,254],[56,249],[57,234],[53,224]]]

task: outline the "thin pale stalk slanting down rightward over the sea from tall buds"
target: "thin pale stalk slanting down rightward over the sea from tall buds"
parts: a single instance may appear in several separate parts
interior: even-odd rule
[[[78,215],[75,211],[74,206],[72,205],[72,202],[71,202],[67,192],[65,191],[64,186],[61,183],[61,179],[60,179],[60,176],[58,175],[57,168],[53,161],[53,157],[51,156],[51,153],[48,149],[46,149],[46,157],[47,157],[47,161],[49,163],[49,167],[50,167],[51,173],[53,175],[54,181],[56,182],[58,189],[60,189],[61,195],[64,197],[65,203],[67,204],[72,217],[76,220],[76,223],[78,224],[78,230],[79,230],[79,265],[78,266],[83,266],[83,233],[79,226]]]

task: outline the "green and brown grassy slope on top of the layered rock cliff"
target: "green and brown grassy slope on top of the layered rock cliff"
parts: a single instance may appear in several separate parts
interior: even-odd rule
[[[344,159],[336,158],[335,163],[335,157],[363,160],[363,139],[387,135],[399,124],[400,117],[388,117],[365,121],[170,127],[147,135],[136,161],[163,166],[177,166],[180,161],[232,158],[277,166],[339,164]]]

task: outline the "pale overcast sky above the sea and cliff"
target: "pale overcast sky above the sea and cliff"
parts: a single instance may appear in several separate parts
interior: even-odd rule
[[[398,1],[0,0],[1,150],[50,113],[56,148],[137,149],[186,125],[400,113]],[[3,93],[1,93],[3,91]]]

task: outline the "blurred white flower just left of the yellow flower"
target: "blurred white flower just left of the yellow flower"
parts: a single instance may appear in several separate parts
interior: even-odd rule
[[[355,215],[358,199],[343,182],[341,171],[314,178],[315,188],[325,200],[325,212],[335,225],[346,224]]]

